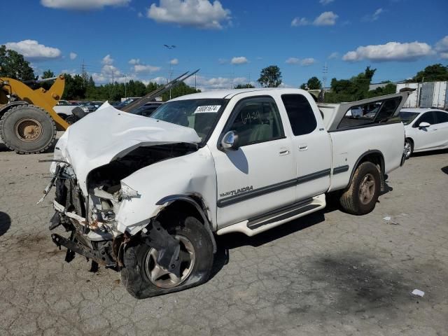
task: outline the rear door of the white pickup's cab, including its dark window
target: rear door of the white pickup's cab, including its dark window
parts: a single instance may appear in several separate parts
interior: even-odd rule
[[[325,193],[330,186],[332,148],[322,119],[311,107],[316,104],[303,94],[282,94],[281,100],[293,132],[296,201]],[[320,113],[317,106],[316,113]]]

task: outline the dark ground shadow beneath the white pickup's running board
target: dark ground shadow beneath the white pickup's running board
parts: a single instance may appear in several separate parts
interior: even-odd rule
[[[321,211],[314,212],[302,218],[297,218],[294,221],[280,225],[272,230],[267,230],[256,236],[248,237],[242,233],[229,233],[228,235],[216,236],[216,244],[218,250],[216,251],[214,265],[211,269],[211,275],[209,279],[212,279],[221,269],[228,264],[230,260],[230,250],[239,248],[241,246],[253,246],[258,247],[264,244],[268,244],[271,241],[286,237],[295,232],[307,229],[318,223],[325,221],[325,214],[335,211],[332,204]]]

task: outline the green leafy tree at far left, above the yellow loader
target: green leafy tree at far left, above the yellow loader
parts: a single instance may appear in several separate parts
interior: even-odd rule
[[[14,50],[0,46],[0,77],[9,77],[18,80],[36,80],[34,71],[23,55]]]

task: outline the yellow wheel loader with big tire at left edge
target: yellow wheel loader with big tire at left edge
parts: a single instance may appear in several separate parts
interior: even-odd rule
[[[33,90],[19,80],[0,77],[0,138],[10,150],[42,153],[55,141],[57,127],[69,127],[53,109],[64,92],[64,76],[52,79],[49,90]]]

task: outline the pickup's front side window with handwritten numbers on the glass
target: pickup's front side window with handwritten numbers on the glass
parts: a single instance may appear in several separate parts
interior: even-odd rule
[[[284,137],[279,110],[274,99],[244,99],[235,107],[236,113],[228,130],[235,131],[239,146],[271,141]]]

